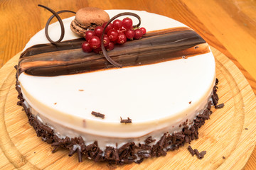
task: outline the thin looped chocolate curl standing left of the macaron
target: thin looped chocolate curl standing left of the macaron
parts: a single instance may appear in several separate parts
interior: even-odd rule
[[[48,19],[47,23],[46,23],[46,28],[45,28],[45,33],[46,33],[46,38],[48,41],[50,41],[50,43],[52,44],[56,44],[58,42],[61,42],[61,40],[63,40],[64,35],[65,35],[65,29],[64,29],[64,24],[63,21],[61,20],[60,16],[58,15],[59,13],[64,13],[64,12],[70,12],[70,13],[75,13],[74,11],[69,11],[69,10],[63,10],[63,11],[58,11],[55,12],[53,11],[53,9],[48,8],[47,6],[43,6],[41,4],[38,4],[38,6],[46,8],[48,11],[50,11],[51,13],[53,13],[53,16],[50,16],[50,18]],[[52,39],[50,39],[50,36],[48,34],[48,27],[50,25],[50,21],[52,21],[53,17],[56,17],[60,23],[60,29],[61,29],[61,34],[60,34],[60,38],[57,41],[53,41]]]

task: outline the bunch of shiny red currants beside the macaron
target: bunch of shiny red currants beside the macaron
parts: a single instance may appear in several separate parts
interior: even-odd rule
[[[100,47],[101,36],[103,30],[107,23],[104,23],[102,26],[97,26],[95,30],[87,30],[85,33],[85,42],[82,43],[82,50],[84,52],[96,53],[102,52]],[[124,18],[122,21],[116,19],[113,23],[110,23],[106,30],[105,35],[103,35],[103,44],[107,51],[113,50],[114,45],[124,44],[128,40],[139,40],[142,38],[142,35],[146,33],[145,28],[133,28],[132,19]]]

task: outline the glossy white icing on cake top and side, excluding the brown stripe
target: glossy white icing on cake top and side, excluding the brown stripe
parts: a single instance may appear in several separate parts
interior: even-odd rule
[[[107,11],[110,18],[121,12],[124,11]],[[154,13],[131,12],[142,18],[141,26],[147,31],[184,26]],[[132,19],[137,23],[136,18]],[[72,20],[73,17],[63,20],[63,40],[78,38],[70,30]],[[58,40],[58,23],[50,26],[49,33],[53,40]],[[34,35],[25,49],[38,43],[48,43],[44,30]],[[55,128],[58,135],[82,135],[87,142],[105,139],[114,145],[117,138],[125,142],[141,137],[137,140],[140,141],[149,133],[160,137],[162,132],[181,129],[178,125],[186,119],[193,122],[206,107],[213,89],[215,61],[210,52],[188,59],[86,74],[33,77],[22,73],[18,80],[33,113]],[[95,118],[92,111],[105,114],[105,119]],[[132,118],[132,123],[120,123],[120,117]],[[99,145],[103,147],[102,143]]]

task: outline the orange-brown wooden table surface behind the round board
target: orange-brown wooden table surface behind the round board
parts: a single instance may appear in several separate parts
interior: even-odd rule
[[[174,18],[196,30],[210,45],[229,57],[245,75],[256,94],[256,1],[1,0],[0,68],[23,50],[26,42],[38,30],[45,27],[51,14],[37,4],[55,11],[78,11],[85,6],[95,6],[102,9],[148,11]],[[61,14],[61,18],[69,16],[72,14]],[[245,169],[256,169],[256,148]]]

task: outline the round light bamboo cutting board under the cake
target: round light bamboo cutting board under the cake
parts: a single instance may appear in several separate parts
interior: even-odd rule
[[[68,151],[51,153],[50,145],[28,124],[26,114],[16,106],[15,55],[0,69],[0,169],[242,169],[255,147],[256,98],[238,67],[215,48],[211,48],[220,80],[218,96],[222,109],[213,109],[210,120],[199,130],[191,147],[206,150],[203,159],[192,157],[187,147],[168,152],[166,157],[147,159],[142,164],[107,166],[84,160]],[[225,158],[224,158],[225,157]]]

